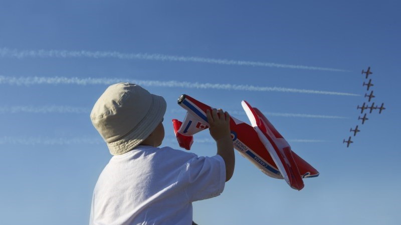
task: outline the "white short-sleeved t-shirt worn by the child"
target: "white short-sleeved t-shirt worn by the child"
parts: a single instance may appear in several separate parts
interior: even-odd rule
[[[192,223],[192,201],[220,195],[220,155],[139,145],[113,156],[93,191],[90,225]]]

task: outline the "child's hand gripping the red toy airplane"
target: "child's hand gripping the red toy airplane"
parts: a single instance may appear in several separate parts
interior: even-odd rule
[[[210,125],[210,135],[213,137],[213,139],[216,141],[225,137],[229,137],[231,139],[230,115],[227,111],[224,112],[223,109],[216,110],[216,108],[214,108],[211,113],[211,111],[208,109],[206,110],[206,115],[208,116]]]

